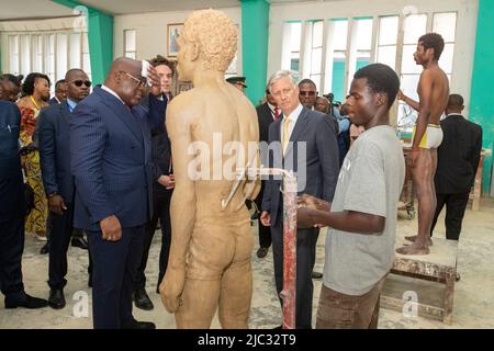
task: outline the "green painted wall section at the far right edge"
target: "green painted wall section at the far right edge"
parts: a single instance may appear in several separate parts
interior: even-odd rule
[[[483,128],[483,146],[492,150],[494,139],[494,104],[492,77],[494,77],[494,1],[479,0],[475,56],[470,92],[470,120]],[[492,156],[484,160],[482,192],[491,189]],[[494,195],[491,192],[491,195]]]

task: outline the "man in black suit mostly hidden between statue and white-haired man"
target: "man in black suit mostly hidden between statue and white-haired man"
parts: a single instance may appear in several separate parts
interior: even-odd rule
[[[269,87],[266,87],[266,102],[256,107],[257,118],[259,122],[259,141],[269,143],[269,126],[272,122],[276,122],[281,116],[281,111],[277,106],[277,102],[269,91]],[[261,190],[257,195],[255,203],[257,208],[262,207],[262,194],[265,192],[266,181],[261,181]],[[258,218],[259,228],[259,249],[257,250],[258,258],[265,258],[268,254],[269,247],[271,246],[271,228],[265,226],[260,218]]]

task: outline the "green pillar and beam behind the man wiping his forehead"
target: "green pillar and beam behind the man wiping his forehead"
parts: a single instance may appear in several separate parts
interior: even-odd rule
[[[85,5],[74,0],[52,0],[70,9]],[[94,84],[103,83],[113,61],[113,16],[93,8],[88,9],[88,42],[91,75]]]

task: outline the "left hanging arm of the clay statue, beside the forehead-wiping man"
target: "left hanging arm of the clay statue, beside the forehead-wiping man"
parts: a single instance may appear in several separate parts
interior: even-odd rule
[[[181,100],[177,98],[169,104],[166,122],[173,155],[176,186],[170,205],[172,233],[170,254],[159,292],[166,309],[170,313],[175,313],[181,305],[180,296],[186,283],[186,257],[195,218],[195,186],[188,174],[189,165],[193,162],[193,155],[188,152],[192,143],[191,114],[180,102]]]

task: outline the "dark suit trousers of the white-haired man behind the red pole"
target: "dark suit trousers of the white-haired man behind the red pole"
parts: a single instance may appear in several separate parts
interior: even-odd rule
[[[279,215],[271,227],[272,254],[274,261],[274,282],[278,295],[283,290],[283,223]],[[314,285],[312,270],[316,257],[318,228],[296,230],[296,290],[295,290],[295,328],[312,328],[312,299]],[[281,299],[280,299],[281,302]],[[281,302],[282,305],[282,302]]]

